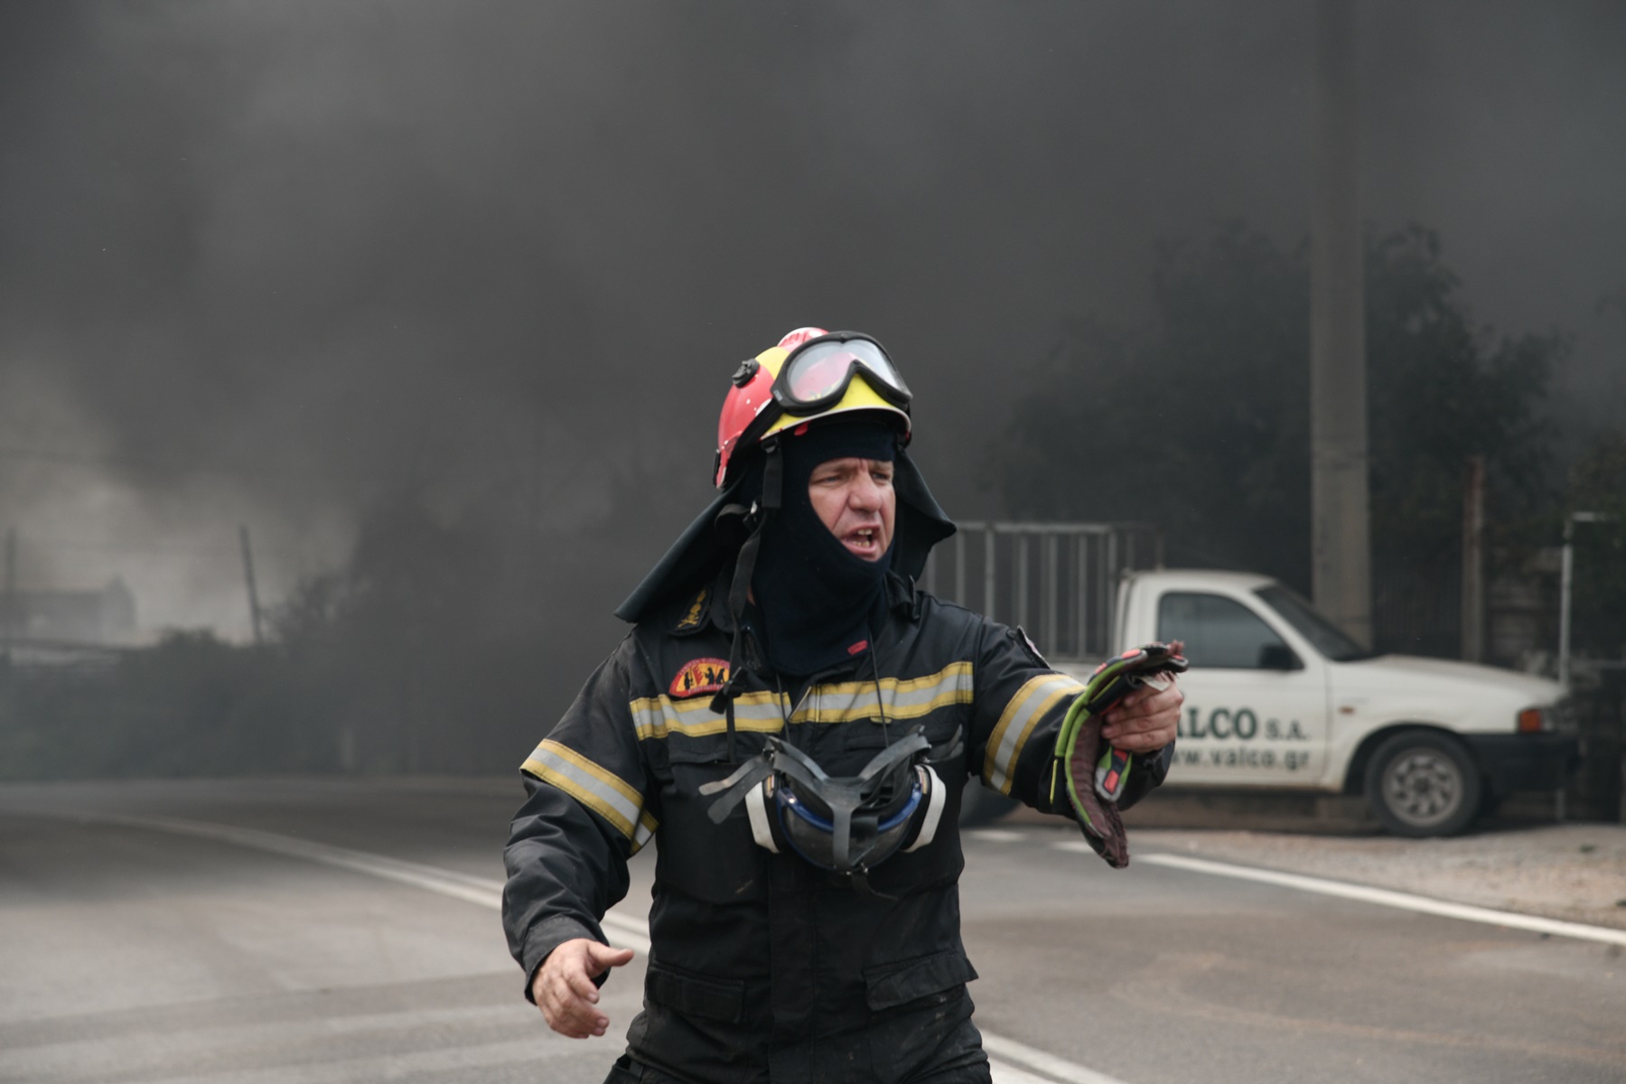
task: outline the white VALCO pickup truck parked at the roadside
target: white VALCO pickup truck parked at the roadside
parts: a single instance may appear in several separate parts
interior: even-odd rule
[[[1125,572],[1112,629],[1119,648],[1185,642],[1169,787],[1359,793],[1390,832],[1449,835],[1511,791],[1561,787],[1576,759],[1556,681],[1372,655],[1263,575]]]

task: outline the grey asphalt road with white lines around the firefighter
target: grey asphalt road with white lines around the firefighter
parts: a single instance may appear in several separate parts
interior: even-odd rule
[[[0,787],[0,1081],[597,1084],[494,912],[512,782]],[[1133,847],[1133,840],[1132,840]],[[1618,943],[967,837],[998,1081],[1626,1081]],[[652,863],[615,930],[637,944]]]

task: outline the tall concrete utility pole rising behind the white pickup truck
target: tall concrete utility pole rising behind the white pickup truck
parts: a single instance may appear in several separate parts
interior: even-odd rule
[[[1354,0],[1315,5],[1311,210],[1311,569],[1317,608],[1372,644]]]

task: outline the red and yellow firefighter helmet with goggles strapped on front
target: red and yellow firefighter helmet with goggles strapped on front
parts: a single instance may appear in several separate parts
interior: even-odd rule
[[[730,466],[741,449],[831,414],[885,411],[907,442],[909,401],[909,385],[872,336],[797,328],[735,371],[717,419],[714,483],[725,489],[738,476]]]

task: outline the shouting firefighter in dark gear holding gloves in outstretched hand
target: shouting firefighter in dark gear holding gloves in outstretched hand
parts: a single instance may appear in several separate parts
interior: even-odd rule
[[[909,387],[867,335],[800,328],[743,362],[715,501],[524,764],[502,917],[559,1034],[608,1029],[597,988],[633,952],[598,923],[659,840],[644,1011],[610,1081],[989,1081],[961,791],[976,774],[1078,816],[1057,735],[1083,686],[915,585],[954,528],[909,436]],[[1179,707],[1154,683],[1085,723],[1117,808],[1163,782]],[[1107,819],[1086,839],[1112,860]]]

